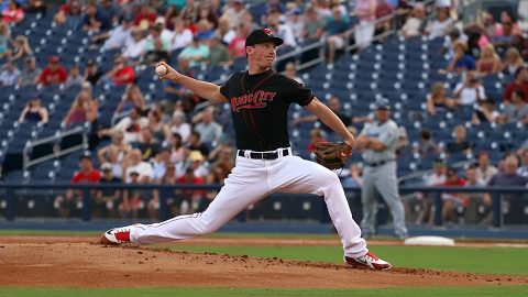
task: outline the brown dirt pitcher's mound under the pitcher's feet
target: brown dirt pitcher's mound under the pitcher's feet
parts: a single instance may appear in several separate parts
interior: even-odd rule
[[[40,239],[40,242],[37,242]],[[80,238],[0,238],[1,286],[221,286],[381,288],[526,284],[528,277],[415,268],[373,272],[344,265],[103,246]]]

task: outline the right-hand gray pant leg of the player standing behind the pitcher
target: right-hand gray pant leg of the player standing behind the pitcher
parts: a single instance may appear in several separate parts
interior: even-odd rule
[[[396,163],[391,162],[380,167],[376,188],[388,205],[394,221],[394,232],[398,237],[407,237],[405,227],[405,208],[398,194],[398,180],[396,178]]]

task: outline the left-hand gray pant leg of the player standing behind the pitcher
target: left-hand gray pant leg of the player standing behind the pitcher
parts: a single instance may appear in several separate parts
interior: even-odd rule
[[[363,169],[363,185],[361,186],[361,204],[363,206],[363,219],[361,220],[361,230],[364,234],[375,233],[375,218],[376,208],[375,201],[377,198],[377,191],[374,186],[374,173],[373,168],[365,167]]]

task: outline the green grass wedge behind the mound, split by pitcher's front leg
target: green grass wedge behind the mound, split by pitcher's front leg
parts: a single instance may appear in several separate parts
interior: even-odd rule
[[[342,263],[340,246],[194,246],[164,245],[174,250],[219,254],[279,257]],[[438,248],[375,245],[371,250],[394,266],[433,268],[485,274],[528,275],[528,249]]]

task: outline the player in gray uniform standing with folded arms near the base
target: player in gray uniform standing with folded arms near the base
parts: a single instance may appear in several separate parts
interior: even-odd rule
[[[391,120],[387,99],[374,103],[377,121],[366,124],[356,140],[356,147],[363,152],[364,170],[361,201],[363,204],[363,234],[374,233],[376,194],[387,202],[393,216],[394,232],[398,238],[407,237],[404,205],[398,194],[396,176],[396,142],[398,125]]]

